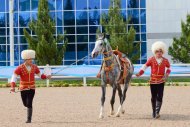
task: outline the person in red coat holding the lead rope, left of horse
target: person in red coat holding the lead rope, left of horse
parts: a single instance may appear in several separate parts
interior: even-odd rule
[[[41,79],[49,79],[51,76],[40,74],[39,68],[35,64],[32,64],[32,59],[35,58],[35,51],[24,50],[21,52],[21,57],[24,59],[24,63],[18,66],[12,75],[11,92],[15,92],[16,78],[17,76],[20,76],[19,89],[21,91],[21,98],[23,105],[27,107],[26,123],[31,123],[32,102],[35,95],[35,74]]]

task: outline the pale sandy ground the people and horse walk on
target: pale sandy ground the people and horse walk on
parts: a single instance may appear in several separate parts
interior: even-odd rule
[[[165,87],[161,118],[151,118],[149,87],[130,87],[121,117],[111,116],[107,88],[105,117],[99,119],[100,87],[37,88],[31,124],[20,93],[0,89],[0,127],[190,127],[190,87]],[[119,98],[116,97],[115,109]]]

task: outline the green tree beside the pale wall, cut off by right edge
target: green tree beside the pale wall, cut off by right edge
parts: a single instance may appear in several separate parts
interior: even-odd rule
[[[174,62],[190,63],[190,15],[187,15],[186,23],[181,21],[181,36],[174,37],[169,47],[169,55]]]

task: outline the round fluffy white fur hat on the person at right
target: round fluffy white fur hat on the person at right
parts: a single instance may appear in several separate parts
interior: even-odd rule
[[[152,44],[152,53],[155,54],[157,50],[162,50],[163,54],[166,52],[166,44],[162,41],[156,41]]]

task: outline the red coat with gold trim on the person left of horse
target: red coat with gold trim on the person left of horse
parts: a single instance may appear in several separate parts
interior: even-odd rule
[[[28,71],[24,64],[21,64],[14,71],[15,74],[20,76],[20,90],[35,89],[35,74],[39,74],[39,68],[32,64],[31,70]]]

